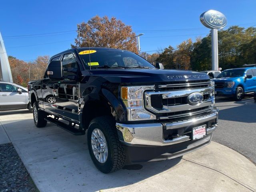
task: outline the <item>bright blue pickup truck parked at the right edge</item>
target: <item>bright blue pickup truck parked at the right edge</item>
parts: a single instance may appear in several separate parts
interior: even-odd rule
[[[227,69],[212,80],[216,96],[230,96],[239,101],[244,94],[256,90],[256,67]]]

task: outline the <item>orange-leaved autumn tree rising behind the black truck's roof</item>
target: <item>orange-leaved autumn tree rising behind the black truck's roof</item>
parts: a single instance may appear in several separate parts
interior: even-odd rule
[[[80,32],[79,44],[78,36],[75,44],[71,47],[107,47],[129,50],[138,53],[136,34],[132,32],[132,27],[125,25],[115,17],[109,19],[107,16],[95,16],[77,25]]]

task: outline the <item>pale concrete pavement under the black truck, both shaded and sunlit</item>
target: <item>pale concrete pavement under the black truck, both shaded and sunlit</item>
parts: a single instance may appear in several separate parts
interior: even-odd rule
[[[216,142],[182,158],[103,174],[90,159],[86,136],[52,124],[36,128],[27,110],[0,112],[0,122],[0,143],[10,138],[40,192],[256,192],[256,166]]]

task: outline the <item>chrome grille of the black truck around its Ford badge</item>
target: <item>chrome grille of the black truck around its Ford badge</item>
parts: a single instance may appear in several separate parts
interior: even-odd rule
[[[186,87],[186,89],[179,89],[180,87]],[[183,82],[183,84],[174,82],[168,85],[158,85],[158,88],[160,88],[159,91],[145,92],[145,107],[154,114],[161,114],[160,119],[205,112],[210,110],[214,102],[214,87],[211,86],[209,80]],[[170,90],[165,90],[166,88]],[[202,102],[196,105],[188,103],[188,95],[194,92],[200,92],[204,96]]]

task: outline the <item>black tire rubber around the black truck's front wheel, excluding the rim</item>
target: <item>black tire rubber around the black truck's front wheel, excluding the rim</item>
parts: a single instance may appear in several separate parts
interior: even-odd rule
[[[96,128],[103,132],[108,146],[108,157],[104,163],[100,163],[92,151],[91,136],[92,131]],[[126,162],[124,147],[118,139],[116,122],[111,116],[96,117],[90,122],[87,132],[87,143],[92,161],[101,172],[114,172],[124,166]]]

